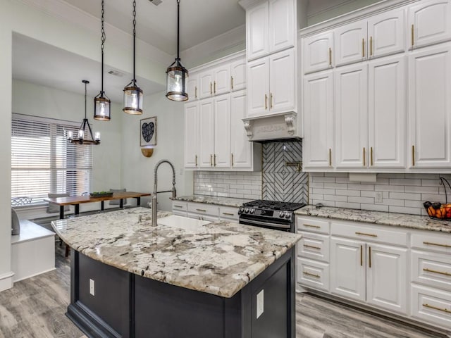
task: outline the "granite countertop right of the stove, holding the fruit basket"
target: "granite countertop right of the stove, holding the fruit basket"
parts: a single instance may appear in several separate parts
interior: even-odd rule
[[[295,211],[295,214],[451,233],[451,222],[447,220],[433,220],[428,216],[407,215],[404,213],[385,213],[383,211],[334,208],[330,206],[321,208],[304,206],[304,208]]]

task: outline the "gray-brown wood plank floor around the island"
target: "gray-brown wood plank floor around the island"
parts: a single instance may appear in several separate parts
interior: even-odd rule
[[[56,270],[0,292],[0,338],[85,337],[65,315],[69,289],[70,261],[57,245]],[[297,338],[440,337],[311,294],[297,294],[296,312]]]

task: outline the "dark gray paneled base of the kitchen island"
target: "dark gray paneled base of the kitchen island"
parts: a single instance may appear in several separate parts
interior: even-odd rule
[[[150,280],[73,249],[71,259],[66,314],[87,337],[295,338],[294,249],[232,298]],[[257,318],[262,289],[264,312]]]

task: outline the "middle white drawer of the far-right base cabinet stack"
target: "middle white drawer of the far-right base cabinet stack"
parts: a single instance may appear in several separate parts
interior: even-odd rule
[[[451,256],[412,250],[412,282],[451,292]]]

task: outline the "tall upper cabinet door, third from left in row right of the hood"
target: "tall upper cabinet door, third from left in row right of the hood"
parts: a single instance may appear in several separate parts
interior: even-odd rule
[[[405,168],[405,56],[369,62],[369,166]]]

